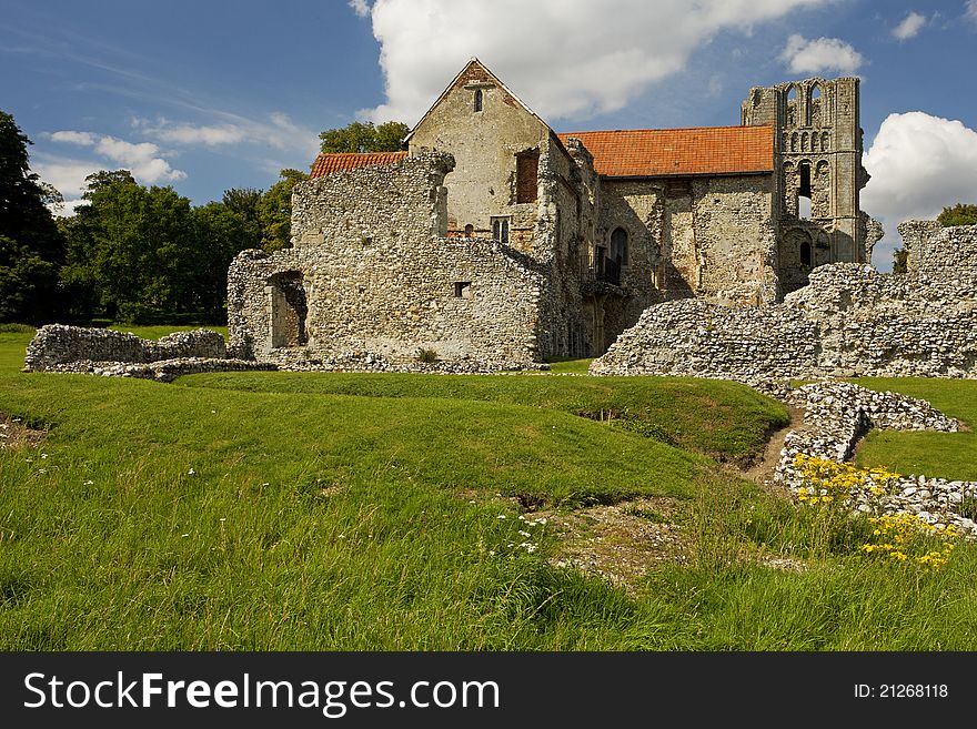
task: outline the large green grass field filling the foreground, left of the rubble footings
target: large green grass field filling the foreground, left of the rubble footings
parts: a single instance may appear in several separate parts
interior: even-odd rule
[[[3,650],[977,645],[975,550],[938,573],[860,558],[817,515],[744,482],[737,466],[786,413],[739,385],[306,373],[163,385],[21,373],[29,340],[0,333],[7,431],[44,432],[0,448]],[[967,396],[948,393],[947,411]],[[561,513],[639,496],[678,505],[687,560],[629,589],[554,565]]]

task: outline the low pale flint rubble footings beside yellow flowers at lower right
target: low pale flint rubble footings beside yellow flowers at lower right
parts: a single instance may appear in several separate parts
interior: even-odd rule
[[[805,406],[804,423],[787,434],[774,480],[793,494],[808,484],[800,475],[797,456],[844,462],[870,429],[939,431],[955,433],[959,424],[929,403],[897,393],[878,393],[849,383],[815,383],[796,394]],[[887,484],[883,495],[870,494],[870,480],[850,494],[854,509],[884,514],[914,514],[936,526],[953,525],[968,539],[977,539],[977,524],[960,515],[960,505],[977,498],[977,482],[947,480],[925,475],[900,476]]]

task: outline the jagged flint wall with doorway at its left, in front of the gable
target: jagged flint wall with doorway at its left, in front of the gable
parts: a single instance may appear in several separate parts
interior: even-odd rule
[[[485,239],[446,237],[444,175],[424,153],[296,186],[294,247],[231,265],[231,350],[302,366],[335,357],[497,366],[537,358],[540,265]]]

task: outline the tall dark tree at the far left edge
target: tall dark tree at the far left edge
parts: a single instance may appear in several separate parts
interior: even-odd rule
[[[61,195],[30,171],[30,143],[0,111],[0,322],[42,324],[61,308],[64,241],[47,207]]]

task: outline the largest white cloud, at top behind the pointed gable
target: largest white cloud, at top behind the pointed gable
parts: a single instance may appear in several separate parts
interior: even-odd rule
[[[380,41],[386,102],[375,122],[415,123],[479,57],[544,119],[621,109],[682,70],[718,32],[830,0],[352,0]]]

